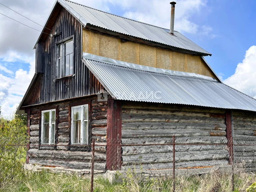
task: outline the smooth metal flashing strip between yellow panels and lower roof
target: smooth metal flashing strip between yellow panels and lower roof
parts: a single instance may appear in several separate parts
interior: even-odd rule
[[[120,66],[120,67],[126,67],[134,70],[140,70],[140,71],[147,71],[152,73],[158,73],[158,74],[166,74],[166,75],[172,75],[172,76],[179,76],[179,77],[188,77],[188,78],[195,78],[195,79],[203,79],[207,81],[213,81],[220,83],[213,77],[197,74],[197,73],[189,73],[189,72],[183,72],[183,71],[174,71],[169,69],[161,69],[156,67],[148,67],[144,65],[138,65],[135,63],[129,63],[125,61],[120,61],[116,59],[111,59],[108,57],[102,57],[98,55],[93,55],[90,53],[83,52],[83,58],[93,60],[93,61],[99,61],[102,63],[107,63],[110,65]]]

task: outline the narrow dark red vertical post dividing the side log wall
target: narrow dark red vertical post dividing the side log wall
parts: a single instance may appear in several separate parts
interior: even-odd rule
[[[229,164],[233,163],[234,160],[234,153],[233,153],[233,136],[232,136],[232,132],[233,132],[233,128],[232,128],[232,111],[231,110],[226,110],[225,113],[226,116],[226,132],[227,132],[227,144],[228,144],[228,151],[229,151]]]

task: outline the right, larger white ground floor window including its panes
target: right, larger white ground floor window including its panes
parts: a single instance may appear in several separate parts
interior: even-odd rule
[[[71,144],[88,144],[88,104],[71,108]]]

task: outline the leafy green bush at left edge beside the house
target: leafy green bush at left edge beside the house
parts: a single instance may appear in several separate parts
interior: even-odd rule
[[[0,119],[0,187],[24,174],[26,132],[27,127],[21,119]]]

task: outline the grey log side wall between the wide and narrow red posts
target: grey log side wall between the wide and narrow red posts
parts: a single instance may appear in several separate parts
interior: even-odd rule
[[[172,136],[176,143],[222,145],[176,145],[177,167],[208,167],[228,164],[225,110],[188,105],[140,102],[122,104],[123,168],[172,168]],[[224,145],[223,145],[224,144]]]

